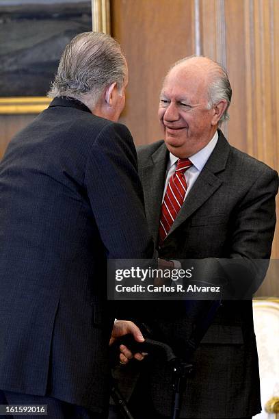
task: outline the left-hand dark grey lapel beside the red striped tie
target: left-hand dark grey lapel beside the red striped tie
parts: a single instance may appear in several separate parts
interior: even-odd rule
[[[168,164],[168,150],[163,143],[149,162],[142,167],[142,186],[144,188],[144,201],[146,218],[155,246],[157,246],[159,222],[161,216],[161,203],[165,186],[165,171]]]

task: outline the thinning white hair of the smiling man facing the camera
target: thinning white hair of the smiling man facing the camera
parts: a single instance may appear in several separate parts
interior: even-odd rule
[[[228,73],[226,72],[226,68],[222,66],[219,62],[211,60],[209,57],[205,57],[204,55],[191,55],[190,57],[182,58],[175,62],[168,74],[178,64],[183,64],[183,62],[190,60],[191,58],[207,58],[213,64],[213,70],[211,70],[211,81],[209,83],[209,90],[208,90],[208,97],[209,101],[207,104],[208,109],[211,109],[215,104],[219,103],[222,99],[226,100],[228,105],[222,118],[220,119],[219,123],[222,124],[226,120],[230,118],[228,115],[228,107],[230,106],[230,101],[232,99],[232,88],[230,87],[230,81],[228,79]]]

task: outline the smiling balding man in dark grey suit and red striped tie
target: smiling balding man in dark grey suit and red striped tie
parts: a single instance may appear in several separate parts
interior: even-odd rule
[[[185,58],[163,81],[159,119],[164,141],[138,151],[146,216],[160,257],[220,263],[220,258],[253,262],[270,257],[278,174],[231,147],[218,129],[228,118],[230,99],[226,71],[209,58]],[[183,355],[189,329],[183,307],[152,302],[150,314],[133,320],[161,329]],[[123,325],[119,320],[118,328]],[[129,363],[129,348],[120,346],[120,351],[120,361]],[[137,359],[142,357],[137,354]],[[181,418],[251,418],[261,411],[252,301],[222,303],[194,364]],[[135,419],[170,417],[170,371],[163,361],[148,363],[146,357],[122,366],[118,378]]]

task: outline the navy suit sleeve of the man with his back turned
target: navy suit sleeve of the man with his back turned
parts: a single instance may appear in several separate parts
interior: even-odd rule
[[[88,156],[85,186],[107,257],[152,257],[135,146],[127,127],[111,123],[98,134]]]

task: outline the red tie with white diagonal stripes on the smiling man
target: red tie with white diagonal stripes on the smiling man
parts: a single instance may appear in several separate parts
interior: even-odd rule
[[[168,188],[165,191],[165,197],[161,208],[161,219],[159,227],[159,244],[170,231],[170,227],[181,209],[187,190],[187,182],[184,176],[185,171],[192,166],[189,159],[178,159],[175,173],[170,177]]]

